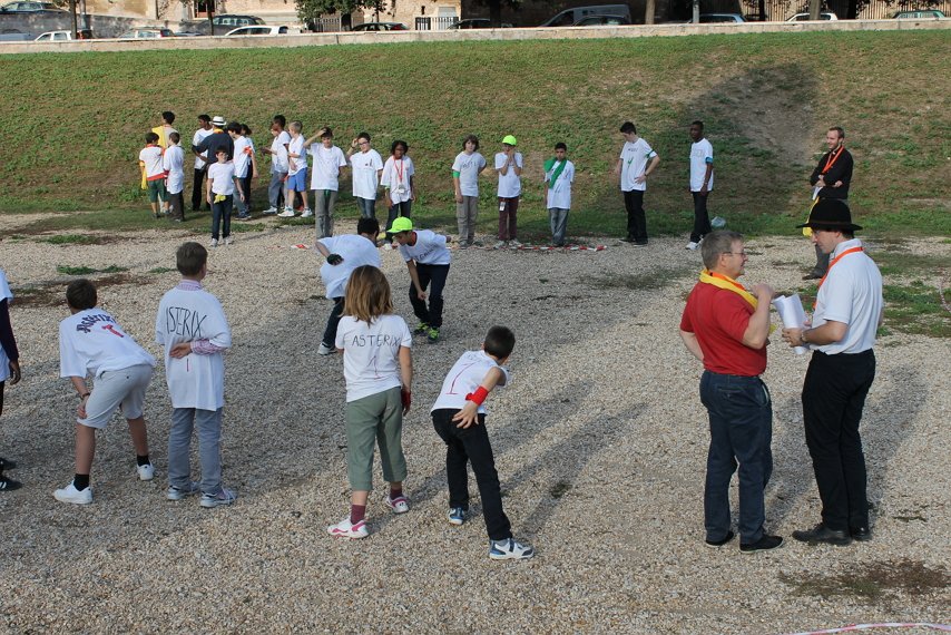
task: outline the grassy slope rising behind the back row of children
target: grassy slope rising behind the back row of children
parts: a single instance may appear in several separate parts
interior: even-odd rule
[[[717,153],[712,211],[742,231],[786,233],[807,206],[824,131],[840,124],[867,228],[951,234],[949,31],[3,56],[0,77],[13,96],[0,100],[0,212],[105,211],[51,225],[61,228],[144,218],[120,212],[145,208],[135,158],[169,108],[189,139],[200,111],[248,123],[258,146],[274,113],[308,133],[330,124],[344,143],[370,130],[381,150],[406,139],[419,213],[450,226],[462,137],[480,135],[491,155],[513,133],[528,160],[520,224],[539,232],[537,179],[557,140],[578,166],[571,229],[620,231],[608,174],[617,127],[633,119],[664,159],[646,198],[651,229],[684,233],[686,128],[702,118]],[[483,180],[487,227],[493,185]]]

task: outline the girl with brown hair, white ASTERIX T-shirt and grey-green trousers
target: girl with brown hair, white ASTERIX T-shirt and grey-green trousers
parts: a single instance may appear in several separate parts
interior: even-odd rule
[[[344,297],[344,316],[336,332],[343,351],[346,380],[346,473],[350,515],[327,527],[331,536],[364,538],[364,517],[373,486],[373,443],[380,447],[383,478],[390,494],[383,502],[396,514],[410,510],[403,495],[406,459],[403,456],[403,414],[410,410],[413,336],[405,321],[393,313],[390,284],[370,265],[356,267]]]

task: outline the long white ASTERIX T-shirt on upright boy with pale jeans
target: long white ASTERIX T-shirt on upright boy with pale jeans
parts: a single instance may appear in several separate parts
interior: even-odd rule
[[[165,377],[173,408],[217,410],[225,404],[225,360],[222,352],[169,355],[180,342],[209,340],[232,345],[232,331],[222,303],[207,291],[173,289],[161,296],[155,320],[155,341],[165,346]]]

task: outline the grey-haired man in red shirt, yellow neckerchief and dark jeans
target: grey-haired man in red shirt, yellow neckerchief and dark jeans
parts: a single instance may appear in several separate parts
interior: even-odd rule
[[[763,529],[763,490],[773,471],[773,407],[759,375],[766,370],[773,290],[757,284],[751,293],[736,282],[746,264],[743,237],[736,232],[708,234],[700,253],[706,268],[687,297],[680,338],[704,364],[700,401],[710,424],[706,544],[720,547],[734,537],[729,481],[739,463],[739,550],[766,551],[783,544]]]

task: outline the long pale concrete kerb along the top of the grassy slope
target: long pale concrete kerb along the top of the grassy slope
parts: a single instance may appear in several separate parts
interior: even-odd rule
[[[821,22],[746,22],[714,25],[634,25],[625,27],[559,27],[523,29],[447,30],[447,31],[369,31],[301,33],[226,38],[190,37],[157,40],[80,40],[68,42],[6,42],[0,53],[88,52],[140,50],[200,50],[225,48],[312,47],[331,45],[372,45],[393,42],[445,42],[484,40],[551,40],[644,38],[723,33],[784,33],[805,31],[905,31],[951,29],[943,20],[836,20]]]

